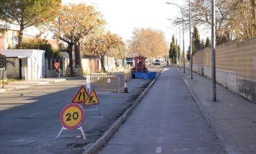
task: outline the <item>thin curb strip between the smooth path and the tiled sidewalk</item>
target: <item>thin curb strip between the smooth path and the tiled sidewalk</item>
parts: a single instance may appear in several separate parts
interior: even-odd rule
[[[179,75],[183,79],[183,82],[185,83],[188,90],[190,91],[190,93],[194,99],[194,102],[196,103],[196,106],[198,106],[199,110],[201,110],[203,117],[205,117],[205,119],[207,120],[208,124],[211,126],[214,133],[217,135],[217,137],[219,137],[219,140],[220,140],[221,144],[223,145],[223,148],[226,150],[226,153],[237,154],[238,153],[237,149],[234,146],[232,146],[232,144],[230,144],[230,142],[228,141],[228,137],[226,137],[226,134],[223,133],[222,129],[217,125],[217,122],[214,121],[214,117],[212,117],[210,115],[210,113],[205,108],[205,106],[203,105],[203,103],[201,102],[199,97],[194,92],[193,88],[190,87],[190,85],[188,84],[187,81],[185,81],[184,77],[181,75],[179,70],[177,72],[179,73]]]

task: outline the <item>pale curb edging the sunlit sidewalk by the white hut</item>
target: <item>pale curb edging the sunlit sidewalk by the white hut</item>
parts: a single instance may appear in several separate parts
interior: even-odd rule
[[[16,90],[16,89],[21,89],[21,88],[29,88],[31,86],[39,86],[39,85],[57,83],[57,82],[61,82],[61,81],[66,81],[66,79],[54,79],[53,81],[43,81],[43,82],[37,82],[37,83],[28,84],[28,85],[21,85],[21,86],[15,86],[15,87],[10,87],[10,88],[1,88],[0,93],[6,92],[6,91],[11,91],[11,90]]]

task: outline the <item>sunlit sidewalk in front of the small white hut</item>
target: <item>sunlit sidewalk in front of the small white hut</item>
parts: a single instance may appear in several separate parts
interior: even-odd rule
[[[32,80],[23,80],[23,81],[12,81],[8,84],[0,85],[0,93],[20,89],[20,88],[28,88],[30,86],[44,85],[50,84],[54,82],[66,81],[66,78],[42,78],[42,79],[32,79]],[[3,86],[3,88],[2,88]]]

